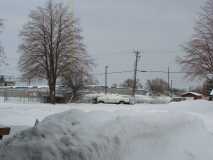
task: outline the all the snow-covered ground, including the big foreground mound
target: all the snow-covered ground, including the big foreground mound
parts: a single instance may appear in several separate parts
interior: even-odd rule
[[[0,125],[12,127],[0,160],[213,159],[209,101],[0,104]]]

